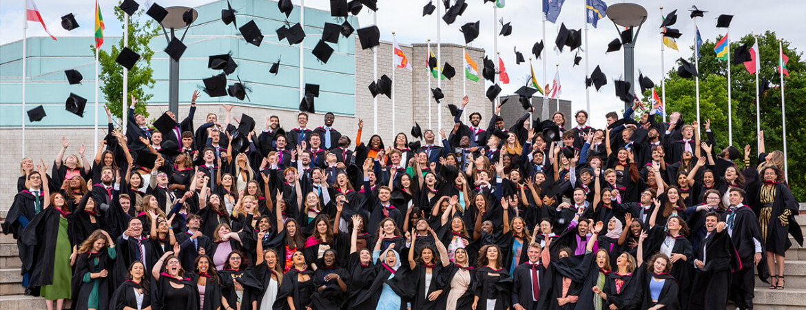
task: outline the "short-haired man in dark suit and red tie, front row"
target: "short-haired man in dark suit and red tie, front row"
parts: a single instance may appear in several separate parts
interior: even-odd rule
[[[548,305],[551,272],[540,262],[541,250],[539,243],[530,244],[526,252],[529,262],[518,265],[513,271],[512,304],[517,310],[537,310]]]

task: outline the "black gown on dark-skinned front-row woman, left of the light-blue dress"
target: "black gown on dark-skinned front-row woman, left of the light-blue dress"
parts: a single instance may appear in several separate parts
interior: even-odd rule
[[[339,275],[345,285],[350,283],[350,275],[346,270],[339,267],[320,267],[311,278],[314,280],[314,293],[310,296],[311,308],[316,310],[339,310],[347,301],[347,291],[342,291],[338,280],[325,280],[325,276],[331,273]],[[325,289],[318,291],[319,287],[322,286]]]

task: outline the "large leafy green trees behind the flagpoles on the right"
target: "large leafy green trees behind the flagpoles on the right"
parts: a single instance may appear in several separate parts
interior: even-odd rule
[[[713,48],[721,36],[715,40],[705,40],[700,48],[700,130],[704,133],[704,122],[711,120],[711,128],[716,134],[717,146],[715,151],[719,153],[729,145],[728,138],[728,68],[724,60],[717,60]],[[733,40],[734,38],[732,38]],[[759,109],[761,130],[764,131],[765,147],[767,152],[783,150],[783,124],[781,122],[781,84],[778,72],[779,62],[779,38],[775,32],[767,31],[763,35],[758,35],[758,49],[761,52],[761,71],[759,72],[759,84],[762,78],[771,81],[772,88],[759,94]],[[743,43],[748,48],[753,46],[753,35],[745,35],[737,42],[731,42],[729,52],[733,57],[733,51]],[[806,126],[800,123],[806,117],[806,64],[801,61],[800,52],[790,48],[790,43],[783,40],[783,53],[789,57],[787,68],[789,77],[784,76],[786,117],[787,117],[787,157],[789,164],[789,184],[792,193],[800,201],[806,200],[806,153],[800,150],[806,147]],[[689,57],[689,62],[694,64],[694,58]],[[733,61],[733,59],[731,59]],[[667,111],[679,111],[683,114],[686,122],[696,121],[696,93],[694,79],[683,79],[676,73],[677,68],[668,72],[666,80],[666,105]],[[745,145],[750,145],[752,153],[750,155],[751,164],[758,164],[756,154],[758,152],[756,133],[756,91],[755,75],[747,72],[744,64],[732,65],[730,67],[731,77],[731,97],[733,114],[733,145],[743,150]],[[658,85],[659,86],[659,85]],[[644,93],[651,96],[651,90]],[[660,93],[658,87],[657,92]],[[742,166],[742,163],[738,163]]]

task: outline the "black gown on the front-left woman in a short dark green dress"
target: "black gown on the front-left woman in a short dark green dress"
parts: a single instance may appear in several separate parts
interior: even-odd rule
[[[94,260],[98,258],[98,267],[95,267]],[[76,258],[76,271],[73,273],[71,279],[71,287],[73,296],[73,309],[86,309],[89,294],[93,290],[93,282],[98,281],[98,310],[106,310],[110,304],[110,297],[114,292],[114,284],[111,279],[114,277],[112,272],[113,258],[110,258],[106,248],[100,250],[98,253],[82,253]],[[98,271],[109,271],[109,275],[105,278],[91,279],[89,282],[84,282],[84,276]]]

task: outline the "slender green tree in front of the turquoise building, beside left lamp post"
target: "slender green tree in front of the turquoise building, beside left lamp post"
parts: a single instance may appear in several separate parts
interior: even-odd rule
[[[147,19],[147,22],[139,22],[139,17],[143,15],[144,10],[138,10],[134,16],[129,18],[129,42],[128,48],[137,52],[140,55],[140,60],[137,61],[134,67],[128,72],[128,93],[129,97],[134,95],[137,100],[135,105],[135,113],[143,114],[148,117],[146,106],[148,99],[154,95],[147,93],[145,89],[152,89],[156,83],[154,81],[153,72],[151,68],[151,59],[154,51],[148,47],[148,42],[153,37],[159,35],[159,28],[152,19]],[[114,16],[123,24],[123,10],[118,6],[114,6]],[[125,29],[125,24],[122,26]],[[111,43],[108,39],[105,43]],[[95,52],[94,46],[90,46]],[[106,98],[106,105],[115,118],[123,118],[123,66],[118,64],[118,54],[123,49],[123,38],[118,40],[117,43],[111,48],[110,52],[101,51],[98,55],[98,63],[100,64],[99,78],[104,81],[101,86],[101,92]],[[131,105],[131,99],[126,100],[126,104]],[[125,124],[125,122],[121,122]]]

